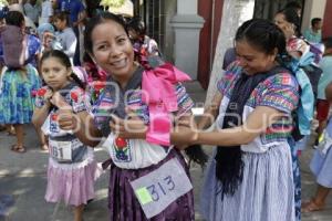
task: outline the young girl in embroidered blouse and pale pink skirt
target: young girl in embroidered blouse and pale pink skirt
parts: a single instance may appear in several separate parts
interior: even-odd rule
[[[50,159],[45,200],[64,201],[74,207],[74,220],[82,220],[84,204],[94,198],[96,162],[93,149],[79,138],[84,122],[73,130],[62,130],[59,120],[69,113],[86,118],[89,102],[83,85],[72,74],[71,62],[61,51],[45,52],[41,59],[41,74],[46,86],[38,91],[32,123],[49,136]],[[74,81],[71,80],[74,78]]]

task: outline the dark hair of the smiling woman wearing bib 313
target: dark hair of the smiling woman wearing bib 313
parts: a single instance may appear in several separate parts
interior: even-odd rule
[[[98,13],[97,15],[93,17],[86,24],[85,31],[84,31],[84,48],[89,53],[92,53],[92,32],[95,27],[98,24],[105,23],[107,20],[114,21],[123,27],[126,34],[128,35],[127,27],[123,18],[113,14],[111,12],[103,11]]]

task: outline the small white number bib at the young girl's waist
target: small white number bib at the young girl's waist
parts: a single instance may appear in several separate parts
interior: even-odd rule
[[[71,141],[50,140],[50,154],[60,162],[71,162],[73,149],[80,147],[77,139]]]

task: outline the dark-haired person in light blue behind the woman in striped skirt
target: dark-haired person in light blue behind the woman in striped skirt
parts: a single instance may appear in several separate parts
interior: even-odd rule
[[[299,124],[293,130],[292,136],[288,139],[292,154],[292,168],[294,181],[294,200],[295,200],[295,219],[301,220],[301,172],[299,166],[299,152],[305,147],[310,138],[310,125],[313,119],[313,109],[315,94],[318,91],[318,81],[321,70],[313,65],[314,57],[310,52],[310,45],[301,39],[300,18],[293,8],[286,8],[277,12],[274,23],[282,30],[287,41],[287,53],[291,56],[289,69],[293,71],[301,87],[301,102],[298,109],[301,108],[301,120],[298,119],[299,113],[294,120]],[[302,59],[304,57],[304,59]],[[301,65],[299,65],[301,63]],[[304,71],[304,67],[310,70]],[[304,71],[304,72],[303,72]],[[305,96],[303,95],[305,94]],[[303,118],[302,118],[303,117]],[[302,124],[300,126],[300,124]],[[300,130],[301,128],[301,130]],[[304,128],[304,129],[302,129]]]

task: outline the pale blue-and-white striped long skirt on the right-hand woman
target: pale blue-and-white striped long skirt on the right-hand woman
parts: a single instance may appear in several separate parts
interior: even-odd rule
[[[215,155],[200,196],[200,211],[209,221],[294,221],[294,185],[288,145],[263,154],[246,152],[243,180],[232,197],[221,200]]]

